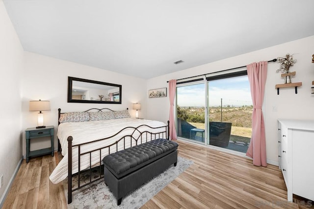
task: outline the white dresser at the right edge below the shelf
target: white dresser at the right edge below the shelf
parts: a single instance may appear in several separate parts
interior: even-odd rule
[[[292,194],[314,201],[314,121],[278,120],[279,168]]]

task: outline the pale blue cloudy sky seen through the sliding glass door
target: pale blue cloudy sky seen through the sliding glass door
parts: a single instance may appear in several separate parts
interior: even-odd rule
[[[247,76],[209,81],[209,106],[252,105]],[[205,84],[177,88],[179,106],[205,106]]]

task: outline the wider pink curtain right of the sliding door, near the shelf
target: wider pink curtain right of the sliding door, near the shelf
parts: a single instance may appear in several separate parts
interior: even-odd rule
[[[253,165],[267,166],[266,140],[262,104],[267,77],[267,61],[246,66],[253,101],[252,138],[246,156],[253,158]]]

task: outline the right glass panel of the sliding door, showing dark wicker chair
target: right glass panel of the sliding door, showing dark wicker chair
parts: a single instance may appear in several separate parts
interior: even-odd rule
[[[252,134],[252,99],[247,75],[208,78],[207,144],[246,153]]]

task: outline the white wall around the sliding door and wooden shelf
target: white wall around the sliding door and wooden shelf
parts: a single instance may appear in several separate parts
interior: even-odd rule
[[[302,86],[298,87],[298,94],[294,93],[294,88],[286,88],[280,89],[280,94],[277,95],[275,85],[284,81],[280,73],[276,73],[279,63],[269,63],[262,106],[265,119],[267,159],[268,161],[278,161],[277,119],[314,120],[314,94],[311,94],[312,80],[314,80],[314,63],[311,62],[312,54],[314,54],[314,36],[149,79],[146,92],[149,89],[165,86],[168,88],[166,81],[170,79],[207,74],[261,60],[272,60],[279,56],[285,56],[287,53],[295,53],[293,57],[297,59],[297,63],[290,68],[290,71],[296,71],[296,76],[291,80],[292,82],[302,82]],[[164,122],[168,120],[169,96],[147,99],[147,106],[149,107],[147,109],[148,119]],[[277,106],[278,111],[272,111],[272,106]]]

